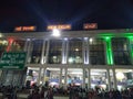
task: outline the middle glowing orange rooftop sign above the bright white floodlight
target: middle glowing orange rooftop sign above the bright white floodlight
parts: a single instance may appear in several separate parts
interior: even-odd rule
[[[48,30],[59,29],[59,30],[71,30],[70,24],[59,24],[59,25],[48,25]]]

